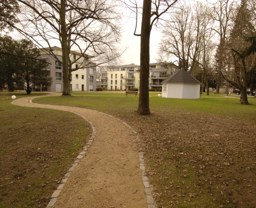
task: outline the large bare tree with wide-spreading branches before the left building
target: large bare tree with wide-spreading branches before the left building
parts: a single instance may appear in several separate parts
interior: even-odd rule
[[[37,45],[47,45],[50,53],[63,68],[62,95],[70,95],[71,72],[85,66],[107,63],[120,56],[120,15],[117,2],[107,0],[18,0],[24,12],[20,16],[22,27],[17,29]],[[26,12],[25,12],[26,10]],[[62,60],[51,50],[52,43],[61,44]],[[82,64],[69,55],[76,50]],[[88,61],[88,54],[94,62]]]

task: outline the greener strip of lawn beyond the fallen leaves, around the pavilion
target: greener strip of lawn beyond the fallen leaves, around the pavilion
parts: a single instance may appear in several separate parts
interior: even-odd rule
[[[249,106],[240,105],[239,97],[224,98],[224,95],[205,93],[200,99],[167,99],[158,97],[159,93],[149,93],[150,110],[155,112],[158,109],[172,109],[178,111],[196,111],[204,113],[213,113],[221,116],[232,116],[252,123],[256,122],[256,98],[248,97],[251,104]],[[124,93],[72,93],[73,97],[45,97],[35,99],[39,103],[52,103],[53,105],[69,105],[82,108],[99,110],[110,114],[118,115],[120,112],[134,112],[138,106],[138,96],[125,96]],[[113,109],[115,112],[113,112]]]

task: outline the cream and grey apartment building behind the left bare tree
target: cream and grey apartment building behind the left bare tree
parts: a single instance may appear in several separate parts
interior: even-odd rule
[[[62,60],[62,49],[60,47],[52,47],[53,53]],[[50,48],[41,49],[41,58],[45,59],[46,62],[51,63],[46,69],[49,73],[48,76],[52,77],[51,86],[36,86],[36,89],[41,89],[42,91],[48,92],[62,92],[63,82],[62,82],[62,66],[56,61],[52,56],[46,53],[46,50]],[[95,91],[96,90],[96,67],[90,62],[90,56],[85,59],[80,53],[76,51],[71,51],[69,58],[74,61],[72,68],[80,68],[71,73],[71,91]],[[38,91],[41,91],[38,90]]]

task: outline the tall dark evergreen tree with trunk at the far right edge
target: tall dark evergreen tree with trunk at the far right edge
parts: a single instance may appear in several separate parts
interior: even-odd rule
[[[222,77],[232,86],[240,89],[240,103],[248,105],[247,88],[256,80],[256,27],[254,12],[250,9],[250,1],[242,1],[238,7],[234,27],[232,28],[228,46],[231,49],[234,70],[230,79],[225,72]]]

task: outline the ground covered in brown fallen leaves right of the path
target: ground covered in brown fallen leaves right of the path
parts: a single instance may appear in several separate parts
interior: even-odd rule
[[[158,207],[256,206],[251,124],[176,108],[121,119],[141,139]]]

